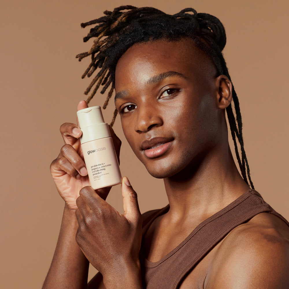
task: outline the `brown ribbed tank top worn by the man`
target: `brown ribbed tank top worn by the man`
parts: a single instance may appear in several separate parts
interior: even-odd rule
[[[165,214],[169,205],[143,214],[142,237],[158,216]],[[192,233],[158,262],[150,262],[140,252],[143,286],[146,289],[179,288],[183,279],[200,260],[232,229],[267,212],[288,221],[274,211],[255,190],[248,190],[227,207],[199,224]]]

